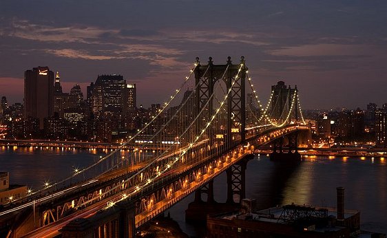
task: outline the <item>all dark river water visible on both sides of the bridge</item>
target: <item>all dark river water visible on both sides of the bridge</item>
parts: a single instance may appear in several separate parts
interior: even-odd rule
[[[10,172],[11,184],[33,189],[45,181],[70,175],[72,166],[83,167],[98,160],[105,151],[81,149],[29,149],[0,147],[0,171]],[[247,164],[247,197],[257,200],[258,208],[290,204],[336,206],[336,187],[345,188],[345,208],[360,210],[362,230],[387,233],[387,159],[382,158],[305,158],[296,167],[275,164],[266,155]],[[216,177],[215,199],[225,202],[226,175]],[[200,228],[185,224],[185,209],[193,194],[169,210],[183,231],[198,236]]]

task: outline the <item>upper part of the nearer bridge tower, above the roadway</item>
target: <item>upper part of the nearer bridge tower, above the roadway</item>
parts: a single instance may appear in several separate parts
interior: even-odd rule
[[[244,142],[246,127],[246,109],[245,109],[245,78],[247,67],[244,63],[244,56],[240,57],[240,63],[234,65],[231,63],[231,57],[227,57],[227,63],[224,65],[214,65],[212,57],[209,57],[207,65],[200,65],[199,58],[196,57],[197,67],[195,68],[196,79],[196,113],[205,107],[208,100],[209,111],[208,118],[213,115],[213,88],[218,80],[223,80],[227,87],[227,91],[231,89],[229,98],[227,99],[227,135],[226,142],[231,144],[233,136],[240,136],[240,141]],[[242,64],[242,70],[238,74]],[[239,75],[236,79],[236,75]],[[236,83],[232,86],[233,80]],[[232,87],[232,88],[231,88]],[[226,91],[226,92],[227,92]],[[198,125],[201,128],[202,125]],[[208,135],[209,140],[213,139],[213,135]]]

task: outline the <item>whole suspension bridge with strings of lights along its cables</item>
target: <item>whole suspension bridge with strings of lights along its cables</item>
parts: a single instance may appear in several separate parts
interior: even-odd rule
[[[118,149],[0,209],[7,237],[134,237],[153,217],[227,171],[227,201],[244,198],[243,163],[264,144],[297,153],[308,131],[297,87],[262,105],[244,57],[196,58],[180,87]],[[185,90],[187,89],[187,90]],[[129,153],[124,153],[129,149]]]

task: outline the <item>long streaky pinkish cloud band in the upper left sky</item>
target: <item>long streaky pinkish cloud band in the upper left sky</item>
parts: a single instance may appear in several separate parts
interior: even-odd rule
[[[58,28],[20,19],[14,19],[10,25],[11,28],[1,28],[0,34],[11,39],[44,43],[45,48],[35,49],[35,54],[36,51],[41,50],[63,58],[83,58],[96,61],[140,59],[148,61],[151,65],[171,67],[180,65],[177,58],[184,52],[164,44],[167,41],[165,36],[151,30],[105,30],[85,25]],[[149,36],[159,36],[159,38],[149,39]],[[147,38],[147,42],[143,41],[144,38]],[[138,41],[128,43],[127,39]],[[28,54],[30,51],[30,49],[25,49],[21,54]]]

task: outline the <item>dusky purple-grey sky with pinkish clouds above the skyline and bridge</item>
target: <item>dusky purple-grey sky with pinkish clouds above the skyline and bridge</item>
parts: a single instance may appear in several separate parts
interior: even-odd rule
[[[59,71],[63,91],[98,74],[164,102],[198,56],[244,56],[260,99],[283,80],[303,109],[387,102],[387,1],[1,0],[0,96],[23,101],[23,74]]]

